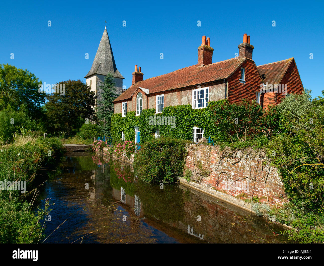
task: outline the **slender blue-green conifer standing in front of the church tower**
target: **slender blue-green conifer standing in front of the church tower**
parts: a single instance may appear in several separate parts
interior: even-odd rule
[[[98,99],[97,116],[101,120],[100,130],[104,135],[110,135],[111,115],[114,113],[113,100],[118,97],[115,91],[115,82],[111,73],[108,73],[104,83],[99,86],[102,90],[101,99]]]

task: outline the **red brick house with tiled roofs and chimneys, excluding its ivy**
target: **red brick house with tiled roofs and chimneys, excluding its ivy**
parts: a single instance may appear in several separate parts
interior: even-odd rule
[[[227,99],[235,103],[244,98],[267,108],[279,104],[286,94],[303,92],[294,58],[257,66],[252,60],[253,49],[245,33],[243,43],[238,45],[238,57],[212,63],[214,49],[210,38],[203,36],[196,65],[147,80],[135,65],[132,86],[114,100],[114,113],[126,116],[135,111],[137,116],[143,109],[155,108],[156,113],[161,113],[167,106],[190,104],[192,108],[205,108],[210,101]],[[138,131],[135,127],[136,142]],[[194,141],[199,140],[203,129],[194,128],[193,136]]]

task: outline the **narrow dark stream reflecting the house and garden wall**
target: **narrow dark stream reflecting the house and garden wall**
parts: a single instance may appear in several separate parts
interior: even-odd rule
[[[65,154],[56,173],[40,195],[55,203],[40,242],[289,243],[275,223],[182,184],[144,184],[92,153]]]

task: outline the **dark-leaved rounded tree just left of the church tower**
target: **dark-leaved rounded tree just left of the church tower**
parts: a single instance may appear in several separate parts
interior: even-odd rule
[[[67,135],[75,134],[79,128],[88,121],[96,121],[95,105],[96,96],[90,87],[80,80],[60,82],[65,84],[64,95],[51,93],[46,96],[45,105],[47,128],[50,133],[66,132]]]

